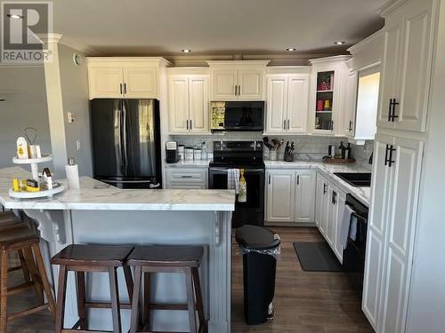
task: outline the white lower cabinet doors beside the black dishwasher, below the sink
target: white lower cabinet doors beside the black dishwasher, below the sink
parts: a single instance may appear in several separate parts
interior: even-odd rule
[[[343,221],[346,194],[327,178],[317,174],[315,220],[336,257],[343,263],[343,246],[340,242],[340,229]]]

